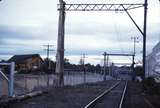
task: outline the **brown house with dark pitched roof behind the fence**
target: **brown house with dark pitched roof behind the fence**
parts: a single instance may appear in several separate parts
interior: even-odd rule
[[[43,65],[43,60],[39,54],[14,55],[8,62],[15,62],[16,71],[32,71]]]

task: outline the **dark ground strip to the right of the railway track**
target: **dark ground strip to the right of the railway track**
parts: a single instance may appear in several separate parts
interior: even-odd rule
[[[160,108],[160,96],[148,95],[142,83],[128,82],[124,108]]]

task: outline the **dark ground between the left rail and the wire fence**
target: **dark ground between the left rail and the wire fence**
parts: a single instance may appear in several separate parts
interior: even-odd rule
[[[7,108],[83,108],[117,81],[54,88],[48,94],[8,104]]]

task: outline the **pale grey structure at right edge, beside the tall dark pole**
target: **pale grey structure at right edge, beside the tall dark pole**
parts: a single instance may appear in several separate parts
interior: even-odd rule
[[[160,75],[160,42],[146,57],[146,76]]]

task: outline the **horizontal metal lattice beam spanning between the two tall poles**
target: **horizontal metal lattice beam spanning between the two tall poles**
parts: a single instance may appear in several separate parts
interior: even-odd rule
[[[125,11],[123,7],[131,10],[144,7],[144,4],[65,4],[65,11]]]

